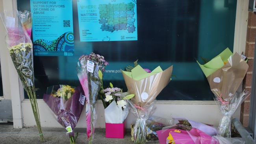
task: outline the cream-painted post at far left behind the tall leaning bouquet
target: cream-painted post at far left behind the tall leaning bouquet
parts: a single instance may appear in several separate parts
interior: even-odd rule
[[[13,11],[17,9],[16,0],[0,0],[0,11]],[[2,20],[0,21],[0,59],[1,59],[1,72],[3,81],[4,99],[11,100],[9,107],[13,110],[13,127],[22,128],[22,108],[21,102],[24,99],[24,93],[22,85],[19,82],[17,71],[13,65],[11,57],[6,46],[4,37],[6,30],[3,26]]]

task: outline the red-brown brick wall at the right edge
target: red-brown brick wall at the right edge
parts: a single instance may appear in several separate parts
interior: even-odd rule
[[[245,89],[249,92],[251,92],[251,87],[252,87],[252,70],[253,70],[255,37],[256,37],[256,14],[254,14],[253,12],[249,12],[246,46],[245,46],[245,55],[249,59],[247,62],[249,65],[249,69],[244,79]],[[249,110],[250,110],[250,96],[241,105],[240,121],[245,127],[247,127],[249,123]]]

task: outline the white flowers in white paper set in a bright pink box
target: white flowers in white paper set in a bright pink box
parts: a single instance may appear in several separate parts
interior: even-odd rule
[[[127,100],[134,97],[134,94],[122,92],[122,89],[113,87],[112,83],[109,84],[110,87],[101,92],[105,108],[106,137],[124,138],[125,119],[129,113]]]

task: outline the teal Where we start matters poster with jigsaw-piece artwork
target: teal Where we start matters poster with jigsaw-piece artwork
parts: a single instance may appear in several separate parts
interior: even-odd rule
[[[136,41],[136,0],[77,0],[80,41]]]

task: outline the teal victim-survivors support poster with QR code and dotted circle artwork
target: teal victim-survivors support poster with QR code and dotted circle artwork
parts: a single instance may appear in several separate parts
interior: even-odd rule
[[[30,0],[35,56],[74,55],[72,0]]]

